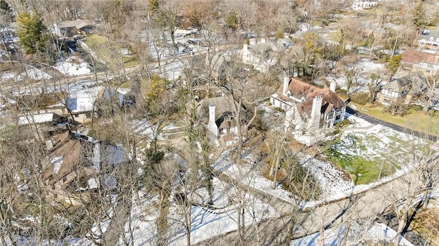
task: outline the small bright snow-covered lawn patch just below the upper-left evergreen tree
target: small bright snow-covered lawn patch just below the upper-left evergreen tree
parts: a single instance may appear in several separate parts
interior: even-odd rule
[[[84,60],[77,56],[67,57],[67,59],[58,59],[54,68],[69,77],[91,73],[90,66],[88,66]]]

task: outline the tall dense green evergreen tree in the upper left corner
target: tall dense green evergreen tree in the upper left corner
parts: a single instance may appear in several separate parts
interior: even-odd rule
[[[46,27],[41,16],[36,12],[21,12],[16,20],[19,23],[19,38],[26,49],[26,53],[34,54],[36,51],[45,51],[47,35]]]

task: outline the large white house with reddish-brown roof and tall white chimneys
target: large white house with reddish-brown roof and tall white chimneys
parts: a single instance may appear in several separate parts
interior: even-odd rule
[[[285,77],[270,97],[274,107],[285,111],[285,128],[298,141],[310,145],[324,137],[324,131],[344,120],[346,104],[335,94],[335,83],[316,87],[299,79]]]

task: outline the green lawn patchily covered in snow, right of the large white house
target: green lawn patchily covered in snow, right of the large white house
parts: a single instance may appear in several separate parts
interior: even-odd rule
[[[412,161],[413,152],[427,150],[427,141],[375,126],[366,130],[342,132],[322,152],[328,161],[351,174],[355,184],[368,184],[393,174]]]

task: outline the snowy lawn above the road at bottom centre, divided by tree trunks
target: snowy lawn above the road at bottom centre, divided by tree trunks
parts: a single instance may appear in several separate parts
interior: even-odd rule
[[[217,178],[213,178],[213,208],[204,206],[192,206],[191,209],[191,243],[200,243],[213,236],[219,236],[233,230],[237,230],[237,208],[233,197],[236,197],[237,191],[230,184],[226,184]],[[126,231],[132,228],[132,238],[134,245],[155,245],[157,229],[156,219],[158,218],[158,195],[147,197],[144,193],[139,193],[141,202],[137,204],[133,202],[131,210],[131,223],[126,224]],[[198,202],[206,200],[207,191],[204,188],[195,191],[198,196]],[[186,245],[186,234],[183,227],[182,210],[170,197],[171,205],[169,208],[168,221],[169,227],[169,243],[168,245]],[[263,204],[260,200],[252,195],[246,196],[246,226],[266,219],[274,217],[274,208]],[[131,238],[127,233],[127,238]]]

